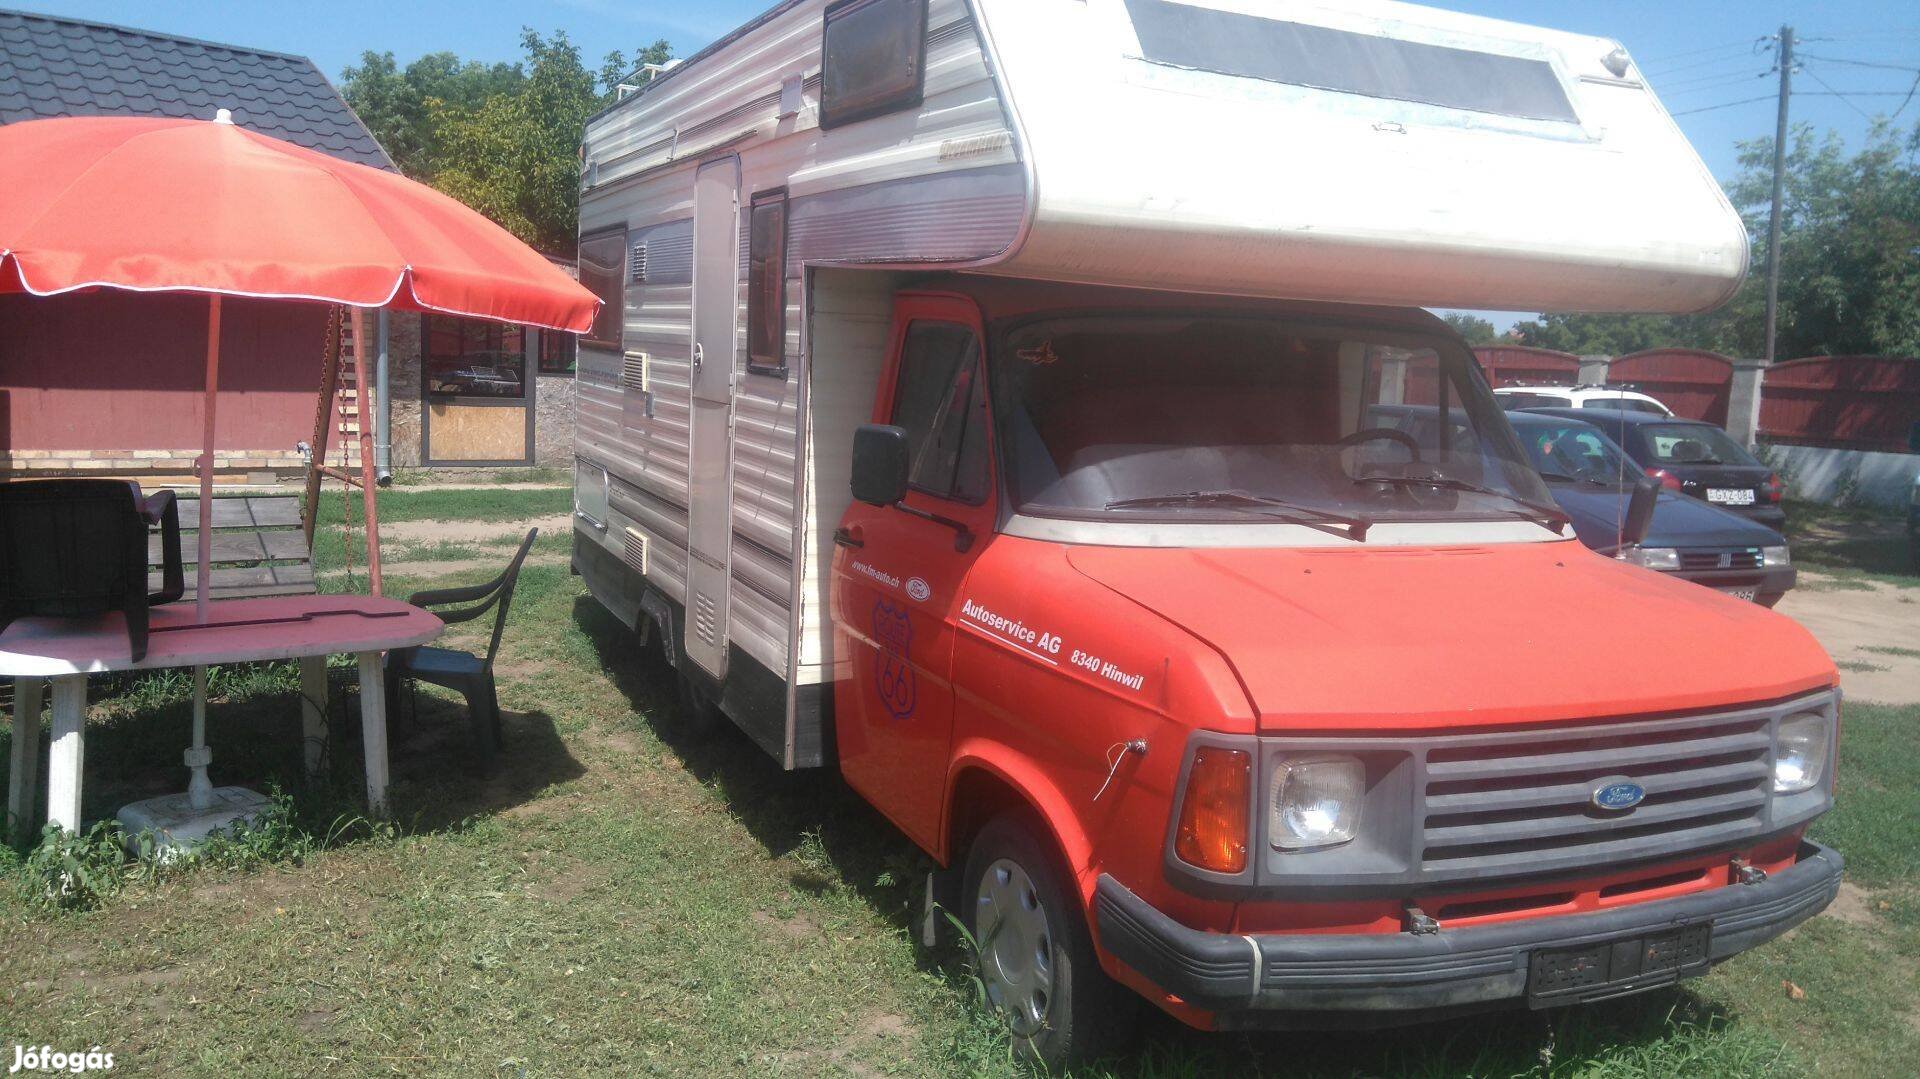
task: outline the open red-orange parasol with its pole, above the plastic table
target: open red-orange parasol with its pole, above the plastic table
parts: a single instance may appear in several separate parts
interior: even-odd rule
[[[467,205],[405,177],[234,127],[227,109],[211,123],[77,117],[0,127],[0,292],[211,298],[202,618],[221,296],[440,311],[566,332],[591,326],[599,307],[591,292]],[[355,348],[359,323],[355,311]],[[363,488],[371,528],[372,486]]]

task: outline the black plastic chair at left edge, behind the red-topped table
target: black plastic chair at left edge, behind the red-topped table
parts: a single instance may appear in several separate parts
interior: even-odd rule
[[[161,589],[150,593],[146,543],[159,528]],[[180,507],[127,480],[0,484],[0,630],[33,614],[127,616],[132,659],[146,659],[148,607],[186,593]]]

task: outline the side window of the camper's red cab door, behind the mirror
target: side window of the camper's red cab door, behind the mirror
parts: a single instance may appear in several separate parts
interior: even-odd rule
[[[987,501],[987,396],[979,342],[956,323],[914,323],[900,348],[893,424],[906,430],[916,492]]]

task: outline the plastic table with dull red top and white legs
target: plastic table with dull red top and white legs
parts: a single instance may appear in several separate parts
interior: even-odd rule
[[[90,674],[296,659],[305,764],[315,772],[326,735],[326,657],[334,653],[351,653],[359,660],[367,806],[380,814],[386,810],[388,778],[380,653],[424,645],[442,630],[444,624],[434,614],[376,595],[223,599],[207,605],[204,620],[196,618],[192,605],[182,603],[152,609],[148,653],[134,660],[119,614],[19,618],[0,632],[0,676],[13,678],[15,716],[8,814],[21,822],[33,808],[46,682],[54,689],[46,820],[79,831]]]

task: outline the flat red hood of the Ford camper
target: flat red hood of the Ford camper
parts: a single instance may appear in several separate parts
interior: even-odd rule
[[[1764,607],[1580,543],[1075,547],[1213,647],[1261,730],[1413,730],[1728,708],[1837,683]]]

